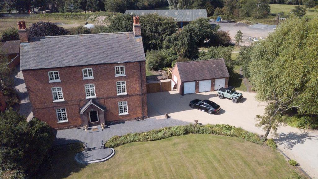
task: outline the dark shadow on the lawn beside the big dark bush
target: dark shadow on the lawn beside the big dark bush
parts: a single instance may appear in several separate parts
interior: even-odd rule
[[[79,140],[65,141],[65,143],[75,142],[82,143]],[[76,154],[77,152],[72,150],[67,144],[53,146],[48,150],[49,158],[47,157],[47,154],[45,154],[46,157],[33,178],[55,179],[55,176],[56,178],[66,178],[72,173],[81,171],[86,166],[75,161]]]

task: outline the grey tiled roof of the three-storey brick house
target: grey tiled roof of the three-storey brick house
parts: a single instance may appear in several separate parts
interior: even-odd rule
[[[21,70],[145,61],[134,32],[30,38],[20,45]]]

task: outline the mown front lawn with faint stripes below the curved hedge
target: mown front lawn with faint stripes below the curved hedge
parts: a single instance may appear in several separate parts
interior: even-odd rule
[[[159,147],[160,146],[160,147]],[[115,148],[104,163],[83,166],[74,154],[55,153],[57,178],[287,178],[292,168],[267,146],[234,137],[188,134]],[[54,178],[49,165],[37,178]]]

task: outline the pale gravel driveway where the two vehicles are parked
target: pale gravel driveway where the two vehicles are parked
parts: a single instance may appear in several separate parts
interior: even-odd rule
[[[219,99],[216,93],[213,91],[181,96],[177,91],[169,91],[147,94],[148,116],[156,118],[168,113],[171,118],[182,121],[229,124],[250,132],[265,133],[255,126],[255,116],[262,115],[266,105],[255,100],[256,93],[242,92],[243,98],[237,104],[232,103],[230,99]],[[189,102],[193,99],[209,99],[219,104],[222,110],[216,115],[209,115],[192,109]],[[295,159],[308,175],[318,178],[318,131],[282,126],[278,133],[280,137],[276,141],[279,149],[289,158]]]

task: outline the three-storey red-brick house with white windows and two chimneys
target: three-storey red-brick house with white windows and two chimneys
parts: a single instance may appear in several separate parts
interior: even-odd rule
[[[134,32],[29,38],[19,25],[20,68],[35,117],[53,128],[147,118],[145,54]]]

